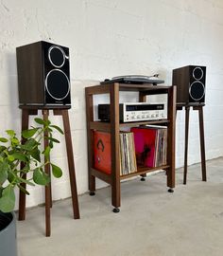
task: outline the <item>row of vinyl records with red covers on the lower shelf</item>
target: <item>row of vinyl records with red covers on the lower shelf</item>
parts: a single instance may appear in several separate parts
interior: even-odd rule
[[[120,175],[137,172],[138,167],[166,164],[167,128],[145,125],[120,132]],[[111,134],[94,131],[94,168],[111,174]]]

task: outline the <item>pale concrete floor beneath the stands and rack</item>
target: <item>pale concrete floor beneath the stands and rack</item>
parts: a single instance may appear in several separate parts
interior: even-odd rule
[[[164,173],[124,182],[119,213],[111,211],[111,188],[79,196],[79,220],[70,199],[56,202],[49,238],[43,207],[27,210],[17,226],[19,256],[222,256],[222,169],[223,158],[208,161],[202,182],[193,165],[187,185],[177,170],[174,193],[166,192]]]

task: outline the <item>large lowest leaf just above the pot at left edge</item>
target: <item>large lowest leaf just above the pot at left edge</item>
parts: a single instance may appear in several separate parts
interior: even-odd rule
[[[9,184],[2,192],[0,198],[0,210],[9,212],[14,210],[15,206],[15,192],[14,188]]]

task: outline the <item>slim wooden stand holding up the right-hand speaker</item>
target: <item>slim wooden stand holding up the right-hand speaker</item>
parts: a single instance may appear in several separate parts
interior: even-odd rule
[[[189,134],[189,121],[190,121],[190,107],[191,106],[193,107],[193,110],[198,111],[202,181],[207,181],[205,143],[204,143],[204,124],[203,124],[203,106],[204,106],[204,104],[200,104],[197,106],[177,105],[177,110],[182,110],[182,108],[185,107],[185,147],[184,147],[183,184],[186,184],[186,181],[187,181],[188,134]]]

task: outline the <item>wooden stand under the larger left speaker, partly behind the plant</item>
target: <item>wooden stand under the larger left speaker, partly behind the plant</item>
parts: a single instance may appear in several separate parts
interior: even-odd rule
[[[28,129],[28,119],[31,115],[38,115],[38,110],[42,110],[43,119],[47,120],[49,116],[49,110],[53,110],[55,116],[62,116],[63,128],[64,128],[64,137],[66,142],[66,151],[67,151],[67,160],[70,176],[70,185],[71,185],[71,195],[73,203],[73,213],[74,218],[79,219],[79,209],[78,209],[78,200],[77,200],[77,183],[76,183],[76,172],[75,172],[75,162],[73,155],[72,139],[71,139],[71,130],[70,130],[70,121],[68,116],[68,108],[47,108],[47,107],[35,107],[35,106],[21,106],[22,109],[22,131]],[[47,137],[47,132],[44,134]],[[22,143],[26,141],[25,138],[22,138]],[[47,147],[48,141],[44,139],[44,149]],[[46,161],[46,159],[44,159]],[[22,168],[23,166],[21,166]],[[46,165],[44,172],[50,175],[50,166]],[[26,178],[26,176],[24,177]],[[26,189],[26,184],[22,184]],[[52,192],[51,192],[51,183],[45,186],[45,236],[50,236],[50,208],[52,208]],[[25,220],[26,218],[26,193],[20,191],[19,193],[19,220]]]

